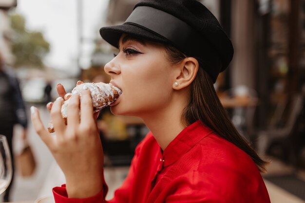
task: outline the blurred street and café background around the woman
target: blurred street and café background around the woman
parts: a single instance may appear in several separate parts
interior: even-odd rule
[[[232,122],[270,164],[262,174],[272,203],[305,203],[305,0],[200,0],[233,41],[230,67],[214,85]],[[104,65],[117,51],[99,28],[123,23],[137,0],[0,0],[0,53],[20,82],[29,118],[33,104],[47,125],[45,104],[56,85],[108,82]],[[1,113],[1,112],[0,112]],[[104,109],[98,126],[105,150],[108,198],[124,180],[133,150],[148,129],[140,119]],[[20,153],[20,127],[14,151]],[[64,177],[27,128],[35,173],[16,171],[11,201],[52,195]]]

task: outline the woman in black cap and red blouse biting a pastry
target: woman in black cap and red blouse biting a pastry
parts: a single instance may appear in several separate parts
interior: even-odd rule
[[[233,127],[213,88],[233,48],[205,6],[196,0],[141,0],[123,25],[101,28],[100,34],[119,48],[104,68],[123,92],[111,111],[139,116],[151,130],[109,202],[270,202],[260,175],[265,162]],[[57,90],[63,97],[63,87]],[[61,97],[48,106],[56,137],[31,108],[36,131],[66,177],[66,185],[53,189],[55,200],[108,202],[90,94],[84,90],[81,101],[79,95],[70,98],[67,126]]]

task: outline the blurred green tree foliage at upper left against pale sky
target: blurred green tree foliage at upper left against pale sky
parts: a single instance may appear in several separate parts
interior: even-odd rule
[[[43,58],[50,51],[50,44],[38,31],[26,29],[25,19],[20,14],[10,15],[12,52],[16,67],[43,68]]]

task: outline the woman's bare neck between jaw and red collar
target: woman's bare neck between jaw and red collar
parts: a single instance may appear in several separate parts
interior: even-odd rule
[[[172,101],[165,108],[141,116],[162,150],[185,128],[181,117],[188,101],[183,98],[188,97],[181,94],[173,95]]]

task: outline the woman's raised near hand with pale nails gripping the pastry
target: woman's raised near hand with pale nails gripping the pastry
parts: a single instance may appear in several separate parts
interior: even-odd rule
[[[58,93],[60,97],[50,105],[56,136],[44,128],[38,109],[34,107],[31,108],[31,119],[38,135],[65,174],[68,196],[91,197],[103,187],[103,150],[93,115],[91,94],[89,90],[84,90],[81,102],[78,94],[71,96],[65,125],[60,112],[65,91]]]

